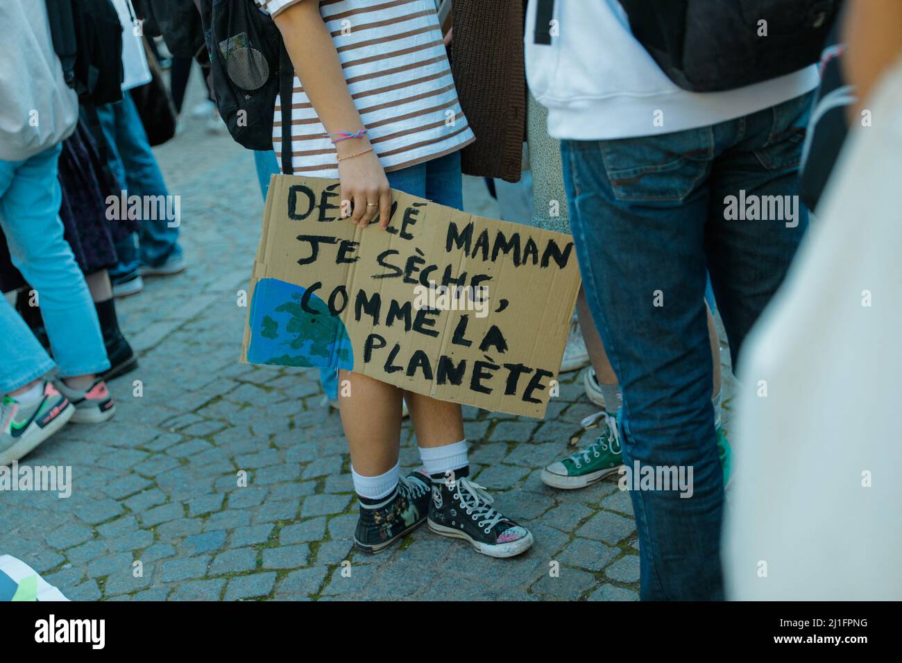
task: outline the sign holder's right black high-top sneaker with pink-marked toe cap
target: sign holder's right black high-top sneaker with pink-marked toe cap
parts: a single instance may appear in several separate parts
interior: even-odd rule
[[[489,557],[514,557],[532,545],[532,532],[492,509],[492,496],[466,477],[433,479],[429,529],[466,539]]]

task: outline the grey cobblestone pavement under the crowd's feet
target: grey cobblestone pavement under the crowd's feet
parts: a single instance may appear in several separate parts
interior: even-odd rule
[[[538,479],[596,410],[578,373],[544,421],[465,408],[475,480],[533,530],[527,554],[483,557],[425,526],[381,555],[354,551],[347,447],[315,373],[237,361],[237,292],[262,213],[253,156],[196,120],[157,154],[181,196],[189,270],[119,303],[141,366],[111,382],[114,419],[69,425],[23,461],[71,465],[73,490],[0,493],[0,554],[72,600],[638,597],[629,496],[613,482],[559,492]],[[496,213],[480,180],[465,189],[468,211]],[[409,422],[401,465],[419,465]]]

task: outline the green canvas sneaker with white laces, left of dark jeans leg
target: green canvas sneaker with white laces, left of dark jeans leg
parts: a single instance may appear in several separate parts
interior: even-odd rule
[[[542,470],[543,483],[564,490],[584,488],[616,473],[623,465],[617,419],[599,412],[583,419],[583,426],[591,426],[596,420],[599,420],[602,429],[594,443],[548,465]]]

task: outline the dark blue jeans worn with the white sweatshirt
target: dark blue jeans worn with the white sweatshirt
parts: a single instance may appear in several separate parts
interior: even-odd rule
[[[808,216],[798,206],[794,220],[729,220],[727,197],[796,194],[811,101],[672,134],[562,143],[585,294],[623,394],[624,462],[693,470],[689,498],[630,491],[642,599],[723,598],[705,270],[736,366]]]

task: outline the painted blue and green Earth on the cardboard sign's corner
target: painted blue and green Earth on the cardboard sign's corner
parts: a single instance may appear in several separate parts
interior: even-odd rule
[[[354,367],[345,323],[329,315],[326,302],[312,292],[305,309],[301,299],[306,291],[303,286],[278,279],[257,281],[251,300],[248,362],[348,371]]]

